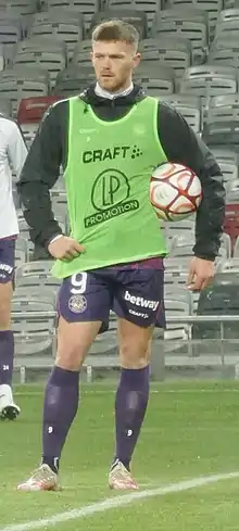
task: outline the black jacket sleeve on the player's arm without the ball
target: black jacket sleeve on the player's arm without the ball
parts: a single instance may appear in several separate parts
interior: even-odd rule
[[[55,185],[66,156],[63,141],[66,124],[67,102],[60,102],[47,111],[17,182],[30,239],[39,245],[48,246],[52,238],[62,233],[52,212],[50,189]]]

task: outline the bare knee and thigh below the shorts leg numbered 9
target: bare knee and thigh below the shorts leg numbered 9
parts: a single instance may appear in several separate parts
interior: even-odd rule
[[[67,323],[60,317],[55,364],[62,369],[78,370],[96,339],[101,323]]]

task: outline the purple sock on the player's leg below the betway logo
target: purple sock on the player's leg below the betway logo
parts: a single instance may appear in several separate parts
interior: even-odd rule
[[[115,397],[116,460],[129,469],[149,400],[149,366],[122,369]]]

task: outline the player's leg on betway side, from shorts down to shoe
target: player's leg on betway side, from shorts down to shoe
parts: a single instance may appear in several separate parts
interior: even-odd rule
[[[129,467],[149,400],[153,325],[163,305],[163,270],[139,269],[128,275],[127,289],[120,291],[115,304],[122,371],[115,397],[115,457],[109,477],[113,489],[137,489]]]

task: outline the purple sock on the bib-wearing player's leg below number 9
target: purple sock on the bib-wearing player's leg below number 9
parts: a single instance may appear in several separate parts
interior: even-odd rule
[[[54,367],[47,383],[43,404],[42,463],[53,471],[78,409],[79,372]]]

